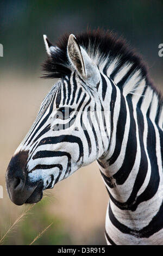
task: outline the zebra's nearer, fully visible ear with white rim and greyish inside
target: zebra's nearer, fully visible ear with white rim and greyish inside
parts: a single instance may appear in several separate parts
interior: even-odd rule
[[[71,34],[68,38],[67,54],[74,69],[84,78],[96,78],[99,72],[83,47],[79,46],[76,37]]]

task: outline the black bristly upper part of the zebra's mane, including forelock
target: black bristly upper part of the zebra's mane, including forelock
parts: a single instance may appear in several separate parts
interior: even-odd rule
[[[145,78],[146,84],[152,87],[156,94],[158,94],[159,99],[161,99],[160,94],[153,87],[153,84],[148,77],[147,65],[143,62],[142,58],[129,47],[122,37],[118,38],[115,33],[109,31],[105,32],[101,29],[92,32],[88,30],[87,32],[75,36],[78,44],[83,46],[91,58],[92,52],[93,59],[95,58],[97,60],[97,54],[100,56],[100,58],[98,58],[98,63],[96,61],[96,64],[99,67],[104,59],[108,59],[109,66],[109,62],[115,58],[119,59],[116,70],[120,69],[125,63],[133,64],[132,71],[139,70],[141,77]],[[57,46],[56,50],[53,51],[51,57],[48,56],[46,62],[43,63],[43,71],[45,72],[42,76],[43,78],[62,78],[71,74],[72,66],[67,57],[68,37],[68,34],[61,37],[57,44],[55,44]],[[91,53],[90,48],[92,48]],[[110,77],[112,78],[112,74]]]

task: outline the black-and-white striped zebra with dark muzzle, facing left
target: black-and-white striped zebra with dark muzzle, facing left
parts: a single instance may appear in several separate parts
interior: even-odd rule
[[[16,205],[97,160],[109,203],[108,245],[163,245],[163,105],[146,64],[109,31],[43,36],[44,78],[59,78],[11,158]]]

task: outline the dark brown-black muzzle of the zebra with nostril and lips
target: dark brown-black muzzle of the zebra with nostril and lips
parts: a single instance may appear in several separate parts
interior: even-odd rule
[[[29,182],[27,159],[28,151],[17,153],[12,157],[6,173],[7,191],[16,205],[36,203],[42,198],[42,184]]]

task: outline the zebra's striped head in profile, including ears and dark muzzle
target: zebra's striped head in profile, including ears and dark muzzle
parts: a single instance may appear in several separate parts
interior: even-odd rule
[[[105,120],[98,66],[73,34],[67,40],[67,64],[58,64],[63,50],[46,36],[44,39],[45,70],[64,75],[56,75],[59,81],[43,100],[32,128],[9,163],[7,190],[17,205],[39,202],[43,190],[95,161],[108,147],[106,132],[102,138]]]

